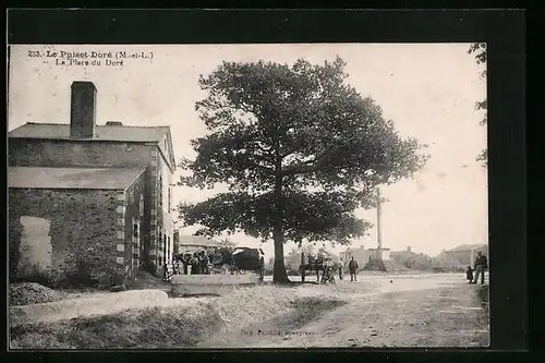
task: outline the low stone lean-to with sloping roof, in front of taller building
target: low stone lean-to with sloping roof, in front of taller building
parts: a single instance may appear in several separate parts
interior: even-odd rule
[[[10,274],[99,287],[131,280],[143,255],[144,171],[10,168]]]

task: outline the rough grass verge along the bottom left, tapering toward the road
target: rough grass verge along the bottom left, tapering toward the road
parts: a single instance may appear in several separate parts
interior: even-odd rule
[[[208,337],[289,308],[291,289],[242,288],[192,305],[128,310],[10,328],[11,349],[191,348]]]

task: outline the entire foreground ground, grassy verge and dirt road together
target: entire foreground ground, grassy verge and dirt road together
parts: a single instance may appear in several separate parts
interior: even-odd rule
[[[336,286],[265,285],[220,298],[170,299],[162,288],[12,306],[11,342],[37,349],[488,343],[487,305],[482,303],[487,290],[467,285],[461,274],[360,276],[358,282]]]

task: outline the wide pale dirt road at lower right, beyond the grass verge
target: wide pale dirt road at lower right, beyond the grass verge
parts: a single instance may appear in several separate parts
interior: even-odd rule
[[[320,298],[202,347],[471,347],[488,344],[480,286],[461,275],[360,276],[358,282],[308,285],[302,298]]]

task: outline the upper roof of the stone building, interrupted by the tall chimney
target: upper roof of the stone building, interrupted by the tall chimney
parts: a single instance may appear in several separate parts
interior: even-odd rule
[[[169,126],[96,125],[96,141],[159,142],[169,133]],[[70,124],[27,122],[9,132],[9,137],[70,140]],[[85,140],[85,138],[83,138]],[[78,138],[82,141],[82,138]]]

